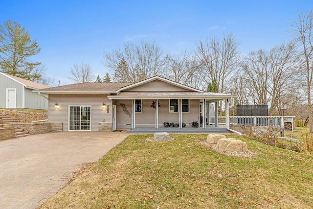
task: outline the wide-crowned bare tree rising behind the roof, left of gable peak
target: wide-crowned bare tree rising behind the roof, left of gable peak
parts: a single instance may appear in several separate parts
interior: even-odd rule
[[[163,49],[156,43],[127,43],[124,48],[104,53],[103,64],[112,70],[114,81],[138,82],[160,75],[164,65]]]

